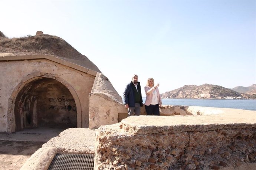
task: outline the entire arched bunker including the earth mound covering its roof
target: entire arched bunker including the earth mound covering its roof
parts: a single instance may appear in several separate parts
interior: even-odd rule
[[[0,132],[89,127],[88,96],[101,74],[95,64],[63,39],[43,33],[0,36],[0,44]],[[117,94],[113,87],[111,93]]]

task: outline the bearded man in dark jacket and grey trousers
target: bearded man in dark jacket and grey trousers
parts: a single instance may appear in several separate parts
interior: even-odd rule
[[[141,108],[143,106],[141,96],[141,85],[138,82],[138,75],[132,76],[132,81],[127,84],[124,90],[124,105],[128,109],[128,116],[135,113],[136,116],[140,116]]]

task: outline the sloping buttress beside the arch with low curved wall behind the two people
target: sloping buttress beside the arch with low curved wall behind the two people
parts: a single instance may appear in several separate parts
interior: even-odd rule
[[[213,115],[226,111],[223,108],[198,106],[163,105],[160,107],[161,116]],[[141,107],[141,115],[147,115],[144,106]],[[127,117],[127,109],[121,96],[118,95],[106,76],[97,73],[92,91],[89,93],[89,129],[118,123]]]

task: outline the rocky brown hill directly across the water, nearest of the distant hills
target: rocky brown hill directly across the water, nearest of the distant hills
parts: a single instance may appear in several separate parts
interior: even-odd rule
[[[173,91],[165,92],[162,98],[182,98],[182,99],[200,99],[200,98],[224,98],[226,96],[242,97],[238,92],[222,86],[203,84],[185,85]]]

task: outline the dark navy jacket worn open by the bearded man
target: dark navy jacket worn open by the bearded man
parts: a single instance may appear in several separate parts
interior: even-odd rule
[[[135,85],[132,83],[132,81],[127,84],[127,86],[125,87],[124,90],[124,104],[128,104],[129,107],[135,107],[135,95],[134,95],[134,91],[133,91],[133,87],[135,87]],[[138,93],[140,95],[140,106],[143,106],[143,101],[142,101],[142,96],[141,96],[141,85],[140,82],[137,82],[137,89],[138,89]]]

